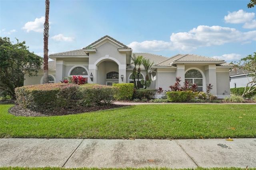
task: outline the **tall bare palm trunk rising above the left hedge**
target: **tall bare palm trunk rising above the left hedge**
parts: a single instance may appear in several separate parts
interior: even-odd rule
[[[48,38],[49,38],[49,10],[50,0],[45,0],[45,21],[44,21],[44,79],[43,84],[49,83],[48,75]]]

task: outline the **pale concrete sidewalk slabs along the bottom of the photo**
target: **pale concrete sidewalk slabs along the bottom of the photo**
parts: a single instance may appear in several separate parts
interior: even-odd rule
[[[233,140],[0,138],[0,167],[256,167],[256,138]]]

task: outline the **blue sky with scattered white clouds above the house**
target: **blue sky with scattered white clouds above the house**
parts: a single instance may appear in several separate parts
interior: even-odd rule
[[[250,0],[50,0],[49,54],[111,36],[165,57],[178,53],[238,61],[256,52]],[[43,56],[44,0],[0,0],[0,36]]]

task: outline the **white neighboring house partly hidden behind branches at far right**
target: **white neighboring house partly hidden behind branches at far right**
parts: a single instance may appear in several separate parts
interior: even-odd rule
[[[247,83],[252,81],[248,71],[242,71],[241,69],[232,69],[230,71],[230,88],[246,87]]]

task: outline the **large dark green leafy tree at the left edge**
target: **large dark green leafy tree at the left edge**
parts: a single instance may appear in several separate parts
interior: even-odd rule
[[[24,75],[37,75],[42,57],[30,52],[24,42],[12,44],[10,38],[0,37],[0,89],[15,96],[14,89],[23,86]]]

